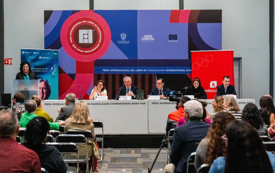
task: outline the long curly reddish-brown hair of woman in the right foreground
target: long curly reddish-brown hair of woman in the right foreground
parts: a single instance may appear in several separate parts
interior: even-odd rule
[[[205,163],[212,164],[213,161],[226,153],[226,143],[222,140],[226,125],[236,120],[229,112],[218,112],[212,121],[205,138],[210,139],[205,157]]]

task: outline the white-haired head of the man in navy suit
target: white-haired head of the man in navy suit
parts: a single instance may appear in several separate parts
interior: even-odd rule
[[[203,113],[203,107],[197,100],[190,100],[184,103],[184,113],[189,113],[190,119],[201,119]]]

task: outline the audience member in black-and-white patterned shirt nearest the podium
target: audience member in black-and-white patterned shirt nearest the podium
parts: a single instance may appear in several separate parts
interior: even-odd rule
[[[26,111],[24,106],[25,96],[22,93],[15,93],[15,95],[12,98],[12,110],[17,114],[18,120],[20,120],[21,115]]]

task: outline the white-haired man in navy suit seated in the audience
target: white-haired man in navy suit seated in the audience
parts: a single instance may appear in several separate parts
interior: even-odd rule
[[[206,136],[210,127],[209,124],[200,120],[202,113],[202,104],[197,100],[184,103],[185,124],[174,131],[170,154],[171,163],[165,166],[165,172],[186,172],[188,156],[196,151],[197,142]]]

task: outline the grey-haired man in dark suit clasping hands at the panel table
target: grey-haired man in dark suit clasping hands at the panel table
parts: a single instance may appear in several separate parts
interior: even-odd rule
[[[116,95],[116,100],[119,99],[120,95],[132,96],[132,99],[137,99],[137,86],[132,86],[132,79],[129,76],[125,76],[123,78],[123,82],[125,86],[119,88],[119,91]]]

